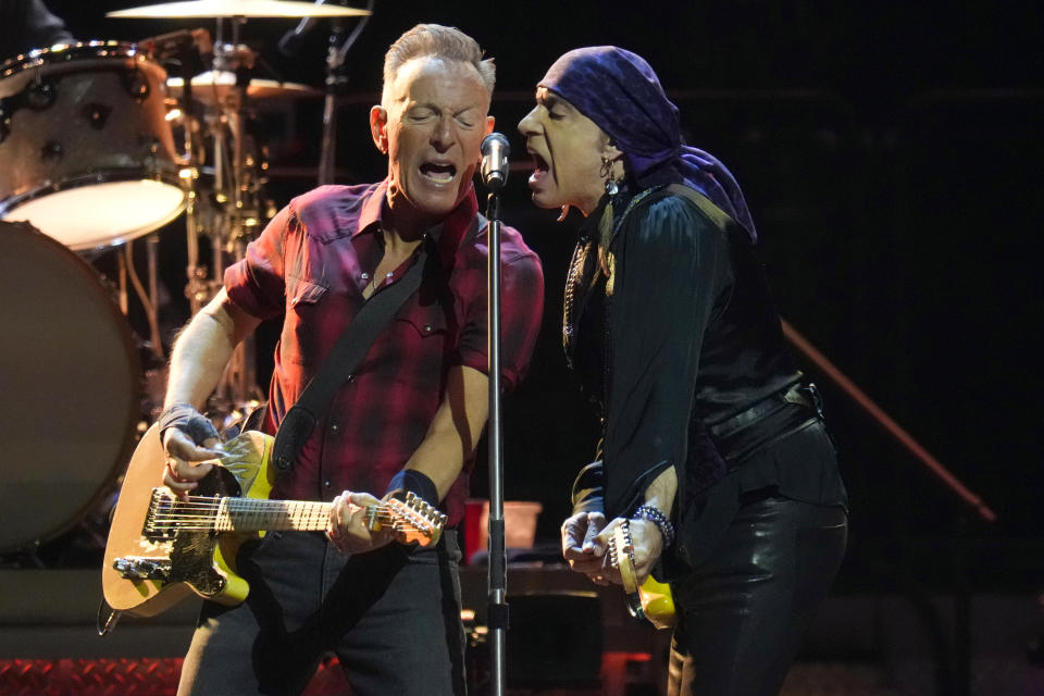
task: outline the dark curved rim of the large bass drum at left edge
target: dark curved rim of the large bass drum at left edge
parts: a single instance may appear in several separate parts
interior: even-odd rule
[[[73,261],[71,265],[76,269],[76,273],[78,273],[82,277],[87,278],[90,282],[88,285],[94,284],[100,293],[104,293],[104,286],[99,283],[97,274],[92,272],[92,266],[84,261],[84,259],[74,251],[70,250],[69,247],[58,241],[53,237],[45,234],[44,232],[40,232],[33,226],[32,223],[5,222],[7,224],[16,225],[20,228],[25,229],[32,234],[34,239],[41,240],[45,245],[49,245],[52,249],[58,250],[60,256],[71,259]],[[140,433],[138,433],[137,424],[141,420],[144,373],[141,371],[141,358],[138,355],[138,347],[134,344],[133,332],[126,322],[126,318],[120,312],[116,303],[112,301],[112,298],[108,299],[109,301],[103,303],[103,307],[107,308],[110,318],[115,320],[115,325],[122,327],[123,330],[117,333],[120,334],[120,341],[123,344],[124,353],[128,358],[126,366],[129,370],[130,377],[128,380],[130,389],[127,394],[127,412],[130,418],[128,419],[129,422],[125,428],[126,432],[124,433],[123,437],[124,442],[120,447],[120,455],[116,457],[116,460],[112,462],[109,473],[98,482],[98,487],[95,494],[78,510],[72,513],[66,522],[51,529],[50,531],[39,534],[37,538],[17,542],[11,546],[3,546],[0,544],[0,555],[30,551],[74,529],[77,524],[84,521],[91,510],[97,509],[97,507],[102,500],[105,499],[107,496],[115,490],[113,484],[126,472],[127,464],[130,461],[130,455],[134,451],[135,444],[140,435]]]

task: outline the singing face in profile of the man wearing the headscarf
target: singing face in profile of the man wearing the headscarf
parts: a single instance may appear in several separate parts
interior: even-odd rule
[[[536,107],[519,123],[525,150],[533,158],[530,175],[533,202],[540,208],[573,206],[585,215],[605,192],[602,158],[620,151],[594,121],[545,87],[536,90]]]

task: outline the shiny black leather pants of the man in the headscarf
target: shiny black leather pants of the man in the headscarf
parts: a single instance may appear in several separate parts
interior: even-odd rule
[[[679,623],[668,694],[778,694],[847,533],[841,507],[779,496],[746,502],[710,558],[671,583]]]

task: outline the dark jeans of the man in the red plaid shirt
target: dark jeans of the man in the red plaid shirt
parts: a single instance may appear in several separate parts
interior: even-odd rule
[[[247,600],[203,605],[178,694],[298,694],[328,652],[358,696],[463,694],[456,537],[348,558],[321,534],[268,534],[239,554]]]

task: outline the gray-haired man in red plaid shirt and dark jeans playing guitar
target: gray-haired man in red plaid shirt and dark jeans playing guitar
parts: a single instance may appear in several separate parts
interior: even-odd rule
[[[283,315],[264,430],[274,433],[366,300],[427,252],[420,290],[334,397],[274,498],[333,500],[327,535],[270,532],[246,545],[251,586],[237,607],[206,604],[181,694],[298,693],[334,652],[355,693],[463,693],[460,551],[452,529],[430,548],[371,533],[363,508],[413,490],[462,519],[488,407],[486,229],[473,174],[493,130],[492,60],[457,29],[419,25],[385,57],[370,125],[388,176],[294,199],[225,273],[225,287],[177,340],[161,417],[164,482],[187,493],[215,434],[196,411],[234,346]],[[537,257],[502,227],[502,368],[529,363],[543,308]]]

